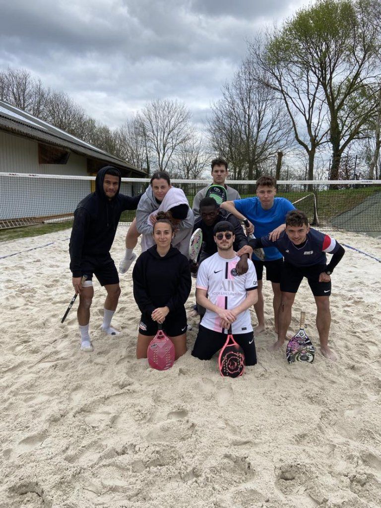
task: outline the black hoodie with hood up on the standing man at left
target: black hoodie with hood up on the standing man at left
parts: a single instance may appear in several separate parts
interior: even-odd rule
[[[70,237],[70,270],[73,277],[81,277],[81,260],[83,257],[106,256],[114,241],[120,215],[124,210],[136,210],[141,195],[131,198],[119,194],[121,176],[119,173],[119,187],[116,195],[109,200],[103,190],[103,180],[109,169],[102,168],[96,178],[96,191],[86,196],[74,212],[74,224]]]

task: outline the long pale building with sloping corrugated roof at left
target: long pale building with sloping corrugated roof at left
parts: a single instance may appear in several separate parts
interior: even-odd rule
[[[67,220],[108,165],[124,178],[147,177],[128,162],[0,101],[0,229]],[[124,181],[120,192],[132,196],[141,187]]]

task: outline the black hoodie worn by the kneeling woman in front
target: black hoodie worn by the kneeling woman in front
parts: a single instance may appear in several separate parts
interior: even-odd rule
[[[134,297],[143,314],[151,315],[157,307],[176,312],[184,304],[192,289],[189,262],[175,247],[162,258],[156,245],[143,252],[132,272]]]

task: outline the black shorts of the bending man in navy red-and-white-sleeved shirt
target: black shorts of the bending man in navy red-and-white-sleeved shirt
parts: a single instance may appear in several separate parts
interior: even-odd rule
[[[319,282],[319,275],[324,272],[327,265],[294,266],[284,262],[280,291],[285,293],[297,293],[303,277],[308,280],[313,296],[330,296],[331,281]]]

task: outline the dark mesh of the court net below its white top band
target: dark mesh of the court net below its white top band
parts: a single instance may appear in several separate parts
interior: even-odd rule
[[[208,182],[174,183],[181,187],[192,206],[196,193]],[[136,196],[147,182],[122,182],[121,192]],[[231,183],[242,198],[255,196],[255,183]],[[72,220],[81,199],[94,188],[87,179],[0,176],[0,229]],[[289,199],[307,213],[310,224],[346,231],[381,231],[381,185],[358,183],[279,184],[277,196]],[[131,221],[135,211],[123,212],[121,220]]]

